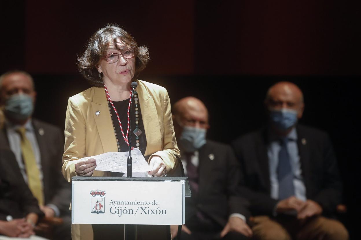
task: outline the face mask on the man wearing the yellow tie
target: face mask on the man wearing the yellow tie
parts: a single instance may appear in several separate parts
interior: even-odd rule
[[[15,94],[5,101],[5,114],[17,120],[25,120],[32,114],[34,105],[31,96]]]

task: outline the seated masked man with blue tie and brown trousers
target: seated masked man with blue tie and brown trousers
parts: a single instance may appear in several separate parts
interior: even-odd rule
[[[347,240],[332,216],[342,196],[329,136],[297,124],[303,94],[293,83],[272,86],[265,99],[266,128],[233,142],[241,162],[243,195],[251,203],[255,239]]]

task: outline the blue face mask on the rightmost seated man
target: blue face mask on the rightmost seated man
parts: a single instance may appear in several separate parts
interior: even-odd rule
[[[297,122],[297,111],[291,109],[270,110],[270,119],[280,130],[287,130]]]

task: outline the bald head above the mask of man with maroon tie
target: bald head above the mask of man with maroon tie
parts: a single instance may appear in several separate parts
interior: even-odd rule
[[[209,128],[208,110],[197,98],[182,98],[173,105],[172,112],[176,136],[181,134],[185,126]]]

